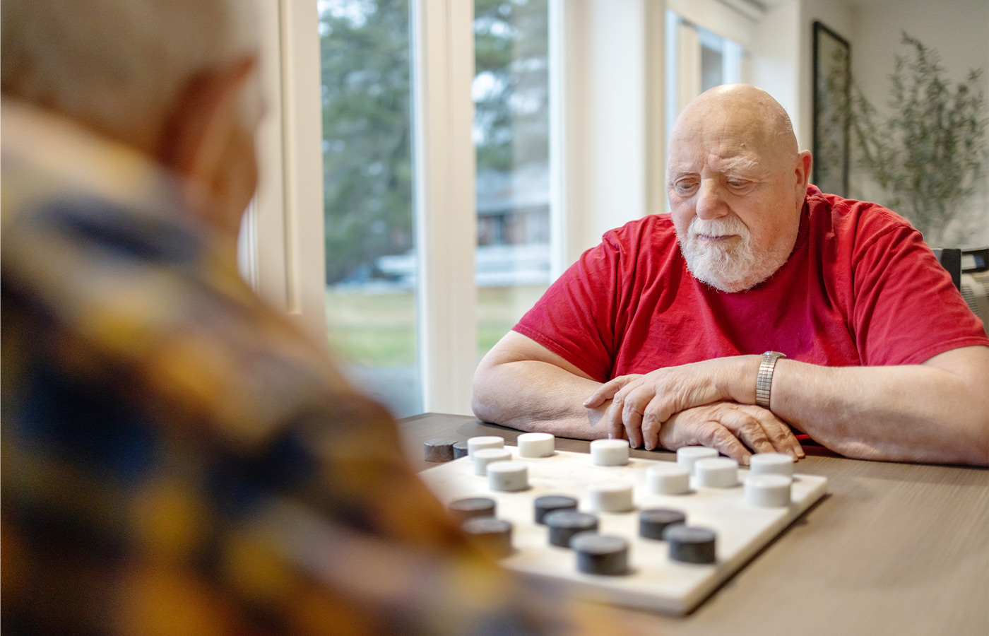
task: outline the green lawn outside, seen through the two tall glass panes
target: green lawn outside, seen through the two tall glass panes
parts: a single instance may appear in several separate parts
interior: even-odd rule
[[[478,290],[478,360],[546,291],[545,287]],[[364,294],[326,290],[327,337],[350,364],[415,364],[415,297],[412,292]]]

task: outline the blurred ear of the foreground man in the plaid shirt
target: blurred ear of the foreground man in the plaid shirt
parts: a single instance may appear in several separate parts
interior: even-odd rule
[[[212,183],[227,138],[242,123],[240,94],[256,63],[246,57],[193,76],[169,110],[156,158],[188,182]]]

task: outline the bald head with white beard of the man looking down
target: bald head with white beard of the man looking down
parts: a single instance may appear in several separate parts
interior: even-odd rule
[[[728,84],[690,102],[670,137],[667,191],[693,275],[734,293],[781,267],[796,241],[810,165],[786,111],[764,90]]]

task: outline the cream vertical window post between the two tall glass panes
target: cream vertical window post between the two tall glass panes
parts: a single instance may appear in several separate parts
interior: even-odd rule
[[[412,3],[418,340],[423,408],[470,413],[477,366],[474,7]]]

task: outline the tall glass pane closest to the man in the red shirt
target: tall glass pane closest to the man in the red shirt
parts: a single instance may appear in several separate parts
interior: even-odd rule
[[[550,284],[548,0],[476,0],[479,359]]]

